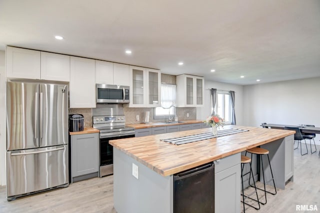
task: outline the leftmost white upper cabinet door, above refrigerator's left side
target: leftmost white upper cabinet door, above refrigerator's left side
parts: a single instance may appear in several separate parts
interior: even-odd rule
[[[40,51],[6,47],[6,77],[40,79]]]

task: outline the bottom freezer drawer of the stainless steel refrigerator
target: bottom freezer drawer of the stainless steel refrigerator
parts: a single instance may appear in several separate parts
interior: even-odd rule
[[[8,200],[55,186],[66,186],[68,146],[7,151],[6,169]]]

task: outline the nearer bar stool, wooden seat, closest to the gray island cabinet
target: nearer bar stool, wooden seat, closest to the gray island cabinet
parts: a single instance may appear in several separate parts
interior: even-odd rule
[[[243,174],[243,167],[244,167],[244,164],[245,163],[249,163],[250,164],[250,170],[248,172],[246,172],[245,174]],[[251,175],[252,173],[252,179],[253,179],[253,184],[254,184],[254,191],[251,192],[250,194],[248,195],[244,195],[244,189],[243,189],[243,176],[247,175],[247,174],[250,174]],[[241,155],[241,183],[242,183],[242,200],[241,202],[243,202],[243,212],[245,212],[245,208],[244,208],[244,204],[247,204],[253,208],[255,208],[256,210],[260,209],[260,203],[259,203],[259,197],[258,197],[258,193],[257,193],[257,190],[256,190],[256,187],[255,187],[255,182],[254,182],[254,178],[253,178],[253,172],[252,172],[252,167],[251,167],[251,158],[250,157],[247,157],[247,156],[243,156]],[[250,185],[250,178],[249,178],[249,185]],[[250,196],[255,192],[256,194],[256,200],[255,199],[252,199]],[[245,198],[244,198],[245,196]],[[244,202],[244,200],[246,198],[250,198],[252,200],[255,200],[258,202],[258,207],[254,207],[253,205],[249,204],[249,203],[246,203]]]

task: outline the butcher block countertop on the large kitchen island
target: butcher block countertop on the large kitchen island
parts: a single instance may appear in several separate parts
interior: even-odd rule
[[[291,130],[249,126],[224,126],[224,129],[227,128],[249,131],[181,145],[160,139],[211,132],[211,128],[116,139],[109,143],[155,172],[167,176],[295,133]]]

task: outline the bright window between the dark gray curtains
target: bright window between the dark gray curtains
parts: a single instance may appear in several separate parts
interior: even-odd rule
[[[212,101],[211,101],[212,102]],[[212,111],[211,105],[211,111]],[[225,124],[231,123],[231,100],[228,92],[216,92],[214,111],[224,119]]]

